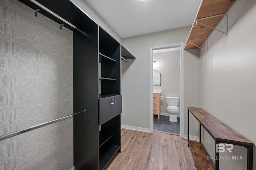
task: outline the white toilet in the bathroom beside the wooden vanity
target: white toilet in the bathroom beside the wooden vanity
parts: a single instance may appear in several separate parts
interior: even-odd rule
[[[180,97],[166,97],[166,101],[168,104],[167,111],[170,113],[169,121],[178,122],[177,114],[180,113],[180,109],[178,108]]]

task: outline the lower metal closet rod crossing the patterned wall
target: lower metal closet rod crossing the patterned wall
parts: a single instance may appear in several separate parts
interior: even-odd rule
[[[35,125],[33,127],[29,127],[29,128],[25,128],[25,129],[22,129],[22,130],[18,130],[16,132],[12,132],[12,133],[9,133],[9,134],[5,134],[3,136],[0,136],[0,141],[1,140],[4,140],[4,139],[7,139],[7,138],[10,138],[10,137],[13,137],[13,136],[16,136],[18,134],[22,134],[22,133],[26,133],[26,132],[29,132],[31,130],[35,130],[35,129],[38,129],[38,128],[41,128],[41,127],[45,127],[47,125],[51,125],[53,123],[56,123],[56,122],[59,122],[59,121],[63,121],[65,119],[68,119],[70,117],[74,117],[76,115],[80,115],[82,113],[85,113],[86,110],[84,109],[84,111],[81,111],[81,112],[78,112],[78,113],[74,113],[72,115],[68,115],[68,116],[65,116],[65,117],[61,117],[61,118],[58,118],[58,119],[54,119],[52,121],[49,121],[49,122],[46,122],[46,123],[42,123],[42,124],[39,124],[39,125]]]

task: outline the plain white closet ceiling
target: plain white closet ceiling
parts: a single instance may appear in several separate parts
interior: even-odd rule
[[[121,38],[192,26],[201,0],[86,0]]]

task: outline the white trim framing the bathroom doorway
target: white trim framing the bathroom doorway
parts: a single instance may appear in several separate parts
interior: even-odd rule
[[[171,43],[150,47],[150,132],[154,130],[153,115],[153,50],[180,47],[180,137],[184,138],[184,43]]]

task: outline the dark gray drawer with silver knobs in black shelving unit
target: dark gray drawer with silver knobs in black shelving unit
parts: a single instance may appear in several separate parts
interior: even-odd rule
[[[104,95],[99,99],[99,125],[122,113],[122,95]]]

